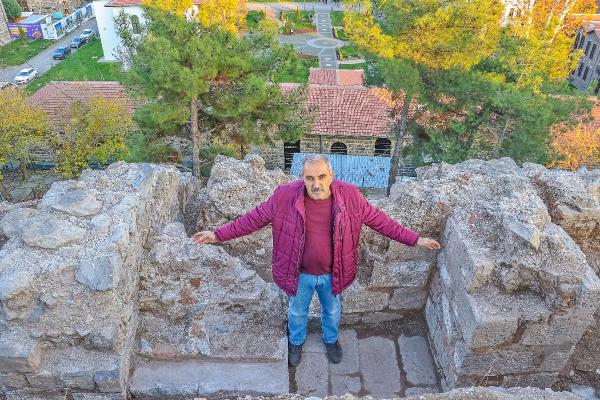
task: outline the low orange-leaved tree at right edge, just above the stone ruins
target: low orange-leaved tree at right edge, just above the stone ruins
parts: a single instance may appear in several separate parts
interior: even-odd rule
[[[584,165],[600,163],[600,129],[578,125],[565,129],[554,137],[552,148],[557,160],[550,167],[576,171]]]

